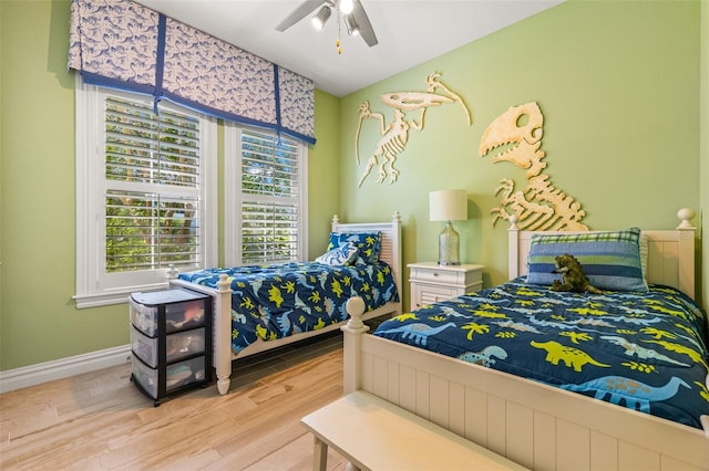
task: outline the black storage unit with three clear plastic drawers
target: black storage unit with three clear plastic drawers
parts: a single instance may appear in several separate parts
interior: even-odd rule
[[[176,289],[130,297],[131,380],[158,406],[212,380],[212,296]]]

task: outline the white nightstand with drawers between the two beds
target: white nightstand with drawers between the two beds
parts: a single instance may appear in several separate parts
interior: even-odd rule
[[[484,265],[439,265],[436,262],[410,263],[411,310],[450,300],[483,287]]]

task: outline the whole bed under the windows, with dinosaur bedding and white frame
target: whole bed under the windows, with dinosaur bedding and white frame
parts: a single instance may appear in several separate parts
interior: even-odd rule
[[[380,234],[379,253],[374,252],[373,259],[366,240],[372,233]],[[338,252],[338,243],[351,249],[346,239],[352,238],[362,244],[360,250],[340,253],[352,255],[346,264],[169,271],[171,287],[214,297],[213,366],[219,394],[229,390],[233,360],[337,329],[347,321],[345,306],[352,295],[367,300],[364,318],[401,313],[400,214],[394,212],[389,222],[358,223],[342,223],[335,216],[330,245],[336,247],[328,254]]]

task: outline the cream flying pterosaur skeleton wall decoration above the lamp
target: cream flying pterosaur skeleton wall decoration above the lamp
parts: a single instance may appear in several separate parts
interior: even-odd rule
[[[369,102],[363,102],[359,105],[359,122],[357,124],[357,133],[354,136],[354,154],[357,156],[357,164],[359,165],[359,136],[362,128],[362,122],[366,118],[379,119],[381,139],[377,144],[377,148],[372,153],[371,157],[367,161],[367,167],[359,179],[358,187],[361,187],[374,166],[379,165],[379,178],[378,184],[384,181],[389,177],[389,182],[393,184],[399,177],[399,170],[394,168],[394,163],[399,154],[403,153],[409,142],[409,130],[422,130],[423,118],[425,111],[429,106],[440,106],[445,103],[459,103],[467,118],[467,125],[472,124],[470,111],[463,98],[455,92],[450,90],[443,84],[439,77],[440,73],[434,72],[430,74],[427,80],[425,92],[395,92],[381,95],[381,101],[394,108],[393,119],[387,126],[384,124],[384,115],[381,113],[372,113],[369,106]],[[441,93],[436,93],[440,91]],[[419,111],[419,115],[415,118],[408,118],[407,112]],[[417,121],[418,118],[418,121]],[[381,163],[379,161],[381,159]]]

